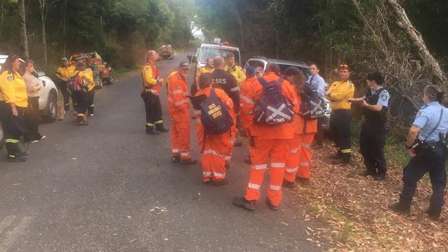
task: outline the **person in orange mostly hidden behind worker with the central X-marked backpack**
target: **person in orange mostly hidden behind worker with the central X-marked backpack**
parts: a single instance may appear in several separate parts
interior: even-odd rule
[[[244,158],[244,162],[251,165],[250,161],[250,150],[255,138],[255,132],[252,130],[252,125],[254,121],[254,114],[252,114],[253,111],[253,105],[254,101],[247,98],[247,94],[252,90],[252,86],[256,84],[256,67],[253,65],[249,65],[246,67],[246,79],[241,83],[241,90],[240,90],[240,120],[241,120],[241,128],[243,129],[243,134],[245,136],[249,137],[249,156]],[[249,105],[249,106],[244,106]]]

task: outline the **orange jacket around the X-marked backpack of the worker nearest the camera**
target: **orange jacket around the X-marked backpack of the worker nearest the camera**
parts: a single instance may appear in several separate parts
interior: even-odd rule
[[[278,75],[274,72],[269,72],[263,76],[267,82],[269,81],[276,81],[278,80]],[[282,92],[283,96],[292,103],[294,112],[298,112],[298,100],[296,97],[294,97],[294,87],[287,82],[282,82]],[[254,108],[255,104],[257,103],[258,99],[260,98],[261,94],[263,93],[263,86],[261,85],[258,80],[255,81],[254,85],[252,85],[252,88],[250,88],[249,92],[246,95],[246,101],[243,103],[243,107],[245,114],[253,115],[254,114]],[[249,101],[249,102],[248,102]],[[254,101],[254,104],[251,104],[251,101]],[[254,125],[252,127],[252,136],[258,136],[260,139],[290,139],[294,136],[294,129],[292,128],[291,123],[285,123],[282,125]]]

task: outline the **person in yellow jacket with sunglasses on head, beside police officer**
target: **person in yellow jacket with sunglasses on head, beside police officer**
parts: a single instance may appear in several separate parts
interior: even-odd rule
[[[329,119],[330,129],[334,143],[338,148],[338,152],[330,158],[332,158],[331,162],[334,165],[347,165],[352,156],[352,142],[350,140],[350,123],[352,120],[350,109],[352,105],[348,102],[348,99],[353,98],[355,87],[349,81],[351,73],[349,65],[340,64],[338,70],[340,81],[335,81],[325,93],[332,108]]]

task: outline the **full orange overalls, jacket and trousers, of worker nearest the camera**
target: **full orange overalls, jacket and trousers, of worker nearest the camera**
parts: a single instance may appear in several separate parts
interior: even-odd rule
[[[269,72],[263,76],[267,82],[278,80],[274,72]],[[297,101],[294,98],[294,89],[287,81],[282,83],[283,96],[291,103],[295,103],[294,112],[298,112]],[[256,81],[246,97],[249,101],[258,101],[263,93],[263,86]],[[247,101],[244,103],[247,107],[247,113],[254,112],[255,105],[250,105]],[[252,107],[252,109],[250,109]],[[267,199],[271,204],[277,206],[282,199],[282,183],[285,174],[285,162],[288,157],[289,140],[293,138],[294,131],[290,123],[283,125],[257,125],[253,126],[254,146],[252,147],[250,167],[250,180],[245,194],[246,200],[258,200],[260,198],[260,187],[263,183],[263,177],[266,169],[270,171],[270,185],[267,190]],[[267,160],[270,161],[268,166]]]

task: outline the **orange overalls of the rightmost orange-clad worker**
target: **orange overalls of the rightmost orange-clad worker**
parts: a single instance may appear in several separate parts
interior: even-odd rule
[[[296,94],[296,92],[294,92]],[[302,103],[301,96],[297,96],[298,104]],[[296,174],[300,178],[311,176],[312,155],[309,145],[317,132],[317,119],[305,120],[303,116],[294,115],[292,122],[294,138],[289,141],[289,155],[286,161],[285,180],[294,182]]]

